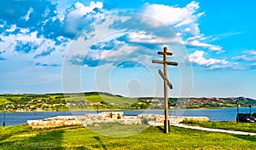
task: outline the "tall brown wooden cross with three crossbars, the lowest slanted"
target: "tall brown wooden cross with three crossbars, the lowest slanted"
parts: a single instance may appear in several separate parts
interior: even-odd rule
[[[167,65],[177,66],[177,62],[167,61],[167,55],[172,55],[171,52],[167,52],[167,48],[164,47],[164,51],[159,51],[158,55],[163,55],[163,61],[159,60],[152,60],[152,63],[158,63],[158,64],[164,64],[164,72],[159,70],[160,76],[164,79],[164,97],[165,97],[165,133],[169,132],[169,126],[170,122],[168,120],[168,91],[167,91],[167,85],[170,89],[172,89],[172,84],[167,78]]]

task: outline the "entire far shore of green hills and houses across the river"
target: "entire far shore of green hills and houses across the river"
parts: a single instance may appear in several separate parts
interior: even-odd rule
[[[233,98],[169,98],[169,106],[176,108],[200,107],[241,107],[256,106],[256,100],[245,97]],[[114,110],[114,109],[162,109],[163,98],[139,97],[129,98],[102,92],[69,94],[22,94],[0,95],[0,111],[5,107],[9,112],[15,111],[67,111],[67,110]]]

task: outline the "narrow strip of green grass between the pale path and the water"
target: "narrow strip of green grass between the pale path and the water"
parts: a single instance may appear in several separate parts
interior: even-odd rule
[[[209,121],[209,122],[200,122],[200,121],[187,121],[183,124],[207,127],[207,128],[216,128],[223,130],[240,130],[247,132],[256,133],[256,123],[236,123],[236,121]]]

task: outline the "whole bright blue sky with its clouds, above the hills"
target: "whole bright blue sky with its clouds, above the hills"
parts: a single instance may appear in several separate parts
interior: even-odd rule
[[[2,0],[0,93],[256,98],[254,0]]]

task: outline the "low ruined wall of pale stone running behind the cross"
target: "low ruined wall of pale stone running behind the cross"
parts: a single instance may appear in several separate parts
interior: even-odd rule
[[[207,117],[169,116],[170,124],[179,124],[184,121],[209,121]],[[123,112],[86,113],[84,116],[58,116],[41,120],[28,120],[27,124],[36,128],[53,128],[58,126],[80,125],[88,126],[101,123],[119,124],[149,124],[160,126],[164,124],[165,116],[160,114],[139,114],[124,116]]]

